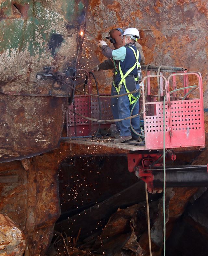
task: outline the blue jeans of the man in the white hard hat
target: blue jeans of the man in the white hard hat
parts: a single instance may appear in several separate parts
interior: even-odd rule
[[[138,89],[138,88],[139,88],[139,85],[136,84],[136,89]],[[125,93],[126,93],[125,86],[122,85],[119,94],[125,94]],[[138,93],[134,93],[133,96],[137,97]],[[124,119],[126,117],[130,117],[130,112],[131,112],[133,106],[134,106],[134,104],[130,105],[128,95],[119,97],[118,98],[118,116],[119,116],[119,119]],[[134,110],[132,112],[132,116],[136,115],[138,113],[139,113],[139,101],[137,101],[137,103],[134,107]],[[132,126],[133,126],[134,130],[137,133],[141,134],[140,117],[137,116],[137,117],[131,119],[131,123],[132,123]],[[130,119],[120,121],[119,126],[120,126],[120,136],[131,136],[132,135],[133,138],[138,138],[138,136],[131,130]]]

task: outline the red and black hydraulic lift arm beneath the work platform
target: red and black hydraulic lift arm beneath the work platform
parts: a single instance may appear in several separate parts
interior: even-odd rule
[[[166,157],[173,160],[176,158],[174,154]],[[147,183],[150,193],[162,192],[163,165],[159,154],[128,154],[128,168]],[[165,184],[166,187],[207,187],[208,165],[166,166]]]

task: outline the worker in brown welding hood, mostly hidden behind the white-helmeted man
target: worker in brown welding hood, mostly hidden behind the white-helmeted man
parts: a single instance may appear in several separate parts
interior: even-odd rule
[[[113,44],[115,49],[119,49],[120,47],[123,46],[123,40],[122,40],[123,29],[113,28],[113,29],[110,30],[109,35],[110,35],[110,37],[106,37],[106,39],[110,40],[110,42]],[[144,57],[144,54],[143,54],[143,51],[142,51],[141,44],[136,42],[136,48],[139,51],[139,55],[141,57],[140,63],[144,64],[145,63],[145,57]],[[94,68],[95,71],[109,70],[109,69],[114,70],[114,76],[113,76],[113,78],[114,78],[115,75],[117,74],[118,61],[117,60],[115,61],[115,60],[110,58],[110,59],[104,60],[102,63],[100,63],[99,65],[97,65]],[[116,95],[117,93],[118,92],[115,88],[115,83],[114,83],[114,80],[113,80],[112,87],[111,87],[111,95]],[[111,98],[111,110],[112,110],[112,114],[113,114],[114,119],[119,119],[117,103],[118,103],[118,98]],[[115,137],[117,137],[119,135],[119,132],[120,132],[120,122],[115,122],[115,124],[116,124],[116,131],[113,131],[113,134],[114,134]]]

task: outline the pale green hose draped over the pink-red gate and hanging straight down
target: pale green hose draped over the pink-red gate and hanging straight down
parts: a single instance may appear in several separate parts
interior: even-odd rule
[[[189,93],[193,90],[198,88],[198,86],[193,85],[193,86],[188,86],[188,87],[183,87],[179,89],[175,89],[173,91],[170,91],[169,95],[176,92],[176,91],[181,91],[181,90],[186,90],[186,89],[191,89]],[[189,94],[187,93],[185,96]],[[185,98],[184,96],[184,98]],[[165,179],[166,179],[166,170],[165,170],[165,99],[166,95],[164,96],[163,99],[163,224],[164,224],[164,239],[163,239],[163,244],[164,244],[164,249],[163,249],[163,256],[165,256],[165,237],[166,237],[166,221],[165,221]]]

